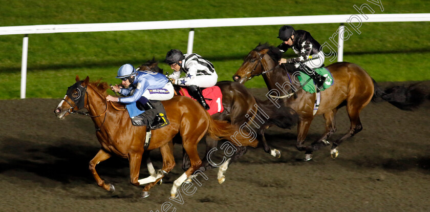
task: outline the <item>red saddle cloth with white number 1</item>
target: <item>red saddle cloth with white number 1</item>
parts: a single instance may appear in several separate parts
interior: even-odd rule
[[[221,93],[221,89],[218,86],[212,86],[210,88],[205,88],[202,90],[203,97],[206,99],[206,103],[209,105],[209,110],[207,111],[210,115],[216,113],[222,113],[224,111],[223,107],[223,94]],[[182,87],[179,90],[179,95],[187,96],[192,98],[187,88]],[[192,98],[194,99],[194,98]],[[210,99],[210,100],[209,100]],[[196,99],[194,99],[196,100]]]

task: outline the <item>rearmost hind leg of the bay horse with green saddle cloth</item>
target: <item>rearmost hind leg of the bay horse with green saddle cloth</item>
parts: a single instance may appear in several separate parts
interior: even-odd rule
[[[340,143],[342,143],[345,139],[350,138],[355,134],[357,134],[358,132],[360,132],[361,130],[363,130],[363,126],[361,125],[361,121],[359,117],[360,111],[362,108],[363,106],[361,105],[357,107],[354,107],[354,105],[347,106],[348,116],[351,121],[351,127],[350,127],[350,130],[345,135],[343,135],[341,138],[333,142],[333,145],[330,150],[330,154],[333,159],[339,155],[339,151],[337,147],[340,145]]]

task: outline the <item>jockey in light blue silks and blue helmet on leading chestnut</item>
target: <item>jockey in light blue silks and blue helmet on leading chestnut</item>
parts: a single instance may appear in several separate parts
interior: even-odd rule
[[[136,102],[136,107],[140,110],[155,110],[149,100],[168,100],[174,95],[173,85],[163,74],[152,71],[136,71],[130,64],[121,66],[118,70],[118,79],[121,79],[122,86],[113,86],[113,91],[119,92],[125,97],[107,96],[108,101],[122,103]],[[156,114],[154,121],[150,124],[151,128],[156,128],[165,124],[159,113]]]

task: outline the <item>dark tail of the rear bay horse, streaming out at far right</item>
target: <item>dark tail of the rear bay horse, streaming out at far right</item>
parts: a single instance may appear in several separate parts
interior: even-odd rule
[[[380,99],[388,101],[395,107],[404,111],[411,111],[419,107],[425,100],[425,93],[416,84],[409,87],[395,86],[383,91],[378,87],[376,81],[372,78],[375,92],[372,97],[373,102],[380,102]]]

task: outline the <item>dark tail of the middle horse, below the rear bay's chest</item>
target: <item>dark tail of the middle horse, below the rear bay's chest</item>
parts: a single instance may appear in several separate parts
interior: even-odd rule
[[[276,125],[282,129],[291,129],[297,124],[298,115],[290,107],[280,105],[279,108],[273,104],[269,99],[263,101],[255,98],[255,102],[259,107],[257,115],[259,117],[266,117],[266,125]]]

